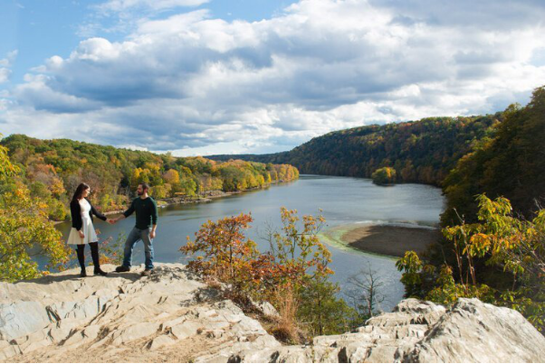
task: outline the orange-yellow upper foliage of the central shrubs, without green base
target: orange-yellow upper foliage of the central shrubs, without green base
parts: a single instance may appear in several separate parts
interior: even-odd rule
[[[297,211],[282,208],[282,233],[271,235],[271,251],[260,253],[244,230],[253,222],[251,215],[208,221],[196,233],[195,241],[187,237],[180,250],[196,256],[190,269],[233,286],[237,294],[274,301],[279,287],[305,285],[308,279],[331,275],[329,250],[317,238],[324,219],[304,216],[303,229],[296,226]]]

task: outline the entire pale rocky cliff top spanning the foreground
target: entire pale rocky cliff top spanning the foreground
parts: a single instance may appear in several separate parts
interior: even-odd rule
[[[185,266],[78,273],[0,284],[0,361],[545,362],[545,338],[520,313],[477,300],[407,300],[358,332],[285,347]]]

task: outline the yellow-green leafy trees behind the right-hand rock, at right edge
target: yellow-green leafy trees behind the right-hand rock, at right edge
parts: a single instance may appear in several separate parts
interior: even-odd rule
[[[436,303],[477,297],[512,307],[545,331],[545,210],[530,221],[516,217],[505,198],[492,201],[480,195],[477,201],[478,222],[461,219],[460,225],[443,229],[454,249],[454,266],[425,266],[416,253],[407,252],[397,262],[398,269],[404,272],[402,281],[413,287],[435,281],[422,293]],[[478,271],[482,267],[480,260],[508,274],[512,280],[509,288],[483,283]]]

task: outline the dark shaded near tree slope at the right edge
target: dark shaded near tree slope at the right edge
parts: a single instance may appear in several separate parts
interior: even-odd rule
[[[509,199],[525,219],[545,207],[545,88],[526,107],[508,107],[503,118],[495,136],[477,143],[445,179],[444,225],[459,223],[454,209],[473,222],[480,193]]]

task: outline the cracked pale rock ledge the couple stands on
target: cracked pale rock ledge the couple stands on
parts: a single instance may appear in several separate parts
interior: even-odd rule
[[[0,284],[0,361],[226,361],[236,350],[280,346],[185,266],[158,266],[149,277],[138,268],[85,279],[78,272]]]

